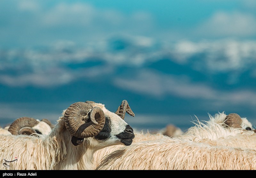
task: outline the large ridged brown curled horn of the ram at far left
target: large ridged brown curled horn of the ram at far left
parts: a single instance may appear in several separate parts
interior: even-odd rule
[[[34,118],[31,118],[31,117],[21,117],[21,118],[18,118],[16,120],[14,120],[14,122],[12,122],[12,124],[8,128],[8,131],[11,132],[12,135],[19,135],[20,133],[23,133],[22,130],[27,130],[28,127],[30,127],[32,129],[32,127],[34,127],[38,123],[39,122],[36,119],[34,119]],[[26,131],[26,132],[33,132],[33,133],[35,133],[36,131],[34,130],[35,131],[34,132],[33,130]],[[25,132],[23,134],[25,134]]]

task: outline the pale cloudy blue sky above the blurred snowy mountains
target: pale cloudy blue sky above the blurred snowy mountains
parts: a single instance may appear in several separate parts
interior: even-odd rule
[[[1,1],[1,47],[63,41],[79,46],[112,35],[152,40],[255,39],[255,1]]]

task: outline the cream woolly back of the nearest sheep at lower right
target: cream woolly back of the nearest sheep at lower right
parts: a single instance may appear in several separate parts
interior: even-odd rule
[[[256,151],[205,143],[149,141],[115,151],[97,170],[255,170]]]

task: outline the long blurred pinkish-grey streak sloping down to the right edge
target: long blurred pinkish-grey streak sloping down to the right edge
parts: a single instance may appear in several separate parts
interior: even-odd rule
[[[223,91],[207,86],[204,83],[192,82],[189,78],[158,74],[142,70],[132,79],[116,77],[117,87],[133,92],[163,98],[168,95],[182,98],[204,99],[212,104],[256,104],[256,93],[250,90]]]

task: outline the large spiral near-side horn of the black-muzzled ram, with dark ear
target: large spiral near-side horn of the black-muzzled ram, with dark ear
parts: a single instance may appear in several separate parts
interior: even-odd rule
[[[92,107],[85,102],[71,104],[64,114],[65,125],[76,146],[84,138],[97,135],[105,124],[105,113],[99,107]]]

